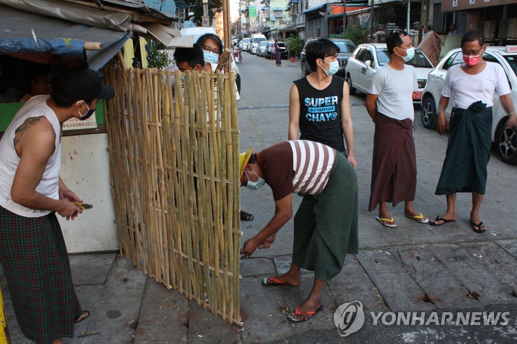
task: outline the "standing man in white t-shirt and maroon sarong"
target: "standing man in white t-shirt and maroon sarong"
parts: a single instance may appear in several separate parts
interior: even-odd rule
[[[411,37],[401,30],[386,37],[386,46],[390,60],[372,75],[364,104],[375,123],[368,210],[373,211],[378,204],[377,221],[396,227],[386,202],[394,207],[404,201],[407,217],[428,223],[428,218],[413,208],[417,184],[413,91],[418,84],[415,68],[404,62],[413,58],[415,48]]]

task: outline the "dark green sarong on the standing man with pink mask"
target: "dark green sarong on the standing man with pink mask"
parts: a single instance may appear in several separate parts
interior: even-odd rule
[[[436,195],[477,192],[484,195],[492,145],[492,107],[481,101],[453,108],[449,140]]]

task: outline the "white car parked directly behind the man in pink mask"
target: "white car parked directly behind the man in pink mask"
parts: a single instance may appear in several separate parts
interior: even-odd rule
[[[488,46],[483,55],[485,61],[496,62],[503,67],[508,83],[510,84],[510,97],[513,106],[517,106],[517,46]],[[427,85],[422,95],[422,125],[428,129],[436,128],[437,109],[440,95],[445,83],[445,75],[449,68],[456,64],[463,63],[461,49],[453,49],[444,56],[427,79]],[[517,108],[517,107],[516,107]],[[452,101],[445,110],[447,121],[450,118]],[[494,96],[493,121],[492,121],[492,142],[497,148],[501,160],[508,164],[517,164],[517,132],[515,128],[506,129],[504,124],[508,120],[508,114],[499,103],[499,97]]]

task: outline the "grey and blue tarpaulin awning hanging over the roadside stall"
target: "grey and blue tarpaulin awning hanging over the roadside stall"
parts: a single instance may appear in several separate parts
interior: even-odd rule
[[[127,32],[78,24],[6,5],[0,5],[0,23],[0,54],[46,63],[86,60],[95,70],[104,66],[128,39]],[[85,51],[84,42],[101,43],[102,49]]]

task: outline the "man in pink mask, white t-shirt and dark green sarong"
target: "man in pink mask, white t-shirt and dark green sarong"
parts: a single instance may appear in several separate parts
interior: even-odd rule
[[[507,126],[515,125],[515,113],[510,97],[510,86],[503,67],[483,60],[486,51],[484,36],[477,31],[467,32],[461,39],[465,63],[452,66],[445,76],[442,97],[438,103],[438,133],[449,129],[449,139],[442,174],[436,195],[446,195],[447,211],[431,221],[438,226],[456,219],[456,193],[472,193],[469,222],[477,233],[486,231],[479,218],[492,145],[492,106],[494,93],[509,114]],[[445,109],[452,98],[450,122]]]

